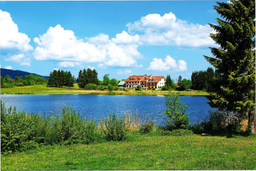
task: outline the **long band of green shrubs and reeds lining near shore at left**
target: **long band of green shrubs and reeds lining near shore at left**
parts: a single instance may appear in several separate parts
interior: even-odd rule
[[[40,145],[91,144],[124,140],[127,133],[139,131],[150,119],[141,120],[138,113],[115,113],[99,122],[88,120],[76,109],[63,107],[52,115],[16,111],[5,108],[1,101],[1,152],[26,151]],[[152,131],[152,130],[151,130]]]

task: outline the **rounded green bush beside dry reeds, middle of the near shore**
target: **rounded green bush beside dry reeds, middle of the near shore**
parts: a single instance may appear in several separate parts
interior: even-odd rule
[[[104,119],[106,129],[104,130],[107,140],[112,141],[122,141],[125,139],[125,136],[128,132],[128,125],[124,122],[125,115],[122,117],[119,116],[119,119],[116,118],[115,113],[109,114],[109,119]]]

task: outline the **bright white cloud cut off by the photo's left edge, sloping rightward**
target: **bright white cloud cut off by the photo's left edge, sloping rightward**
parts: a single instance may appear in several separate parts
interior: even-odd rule
[[[20,33],[10,17],[10,13],[0,9],[0,47],[1,49],[19,49],[20,51],[30,51],[33,47],[29,44],[30,38]]]

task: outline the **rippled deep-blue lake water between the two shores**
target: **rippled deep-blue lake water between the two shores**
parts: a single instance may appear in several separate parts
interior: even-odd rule
[[[16,106],[17,111],[28,113],[37,112],[46,115],[61,113],[63,106],[71,106],[86,117],[99,120],[115,112],[123,116],[126,111],[138,113],[142,119],[150,117],[158,125],[166,123],[163,119],[165,112],[165,97],[153,95],[1,95],[5,107]],[[204,96],[181,96],[180,101],[187,104],[190,122],[203,120],[208,111],[212,110]]]

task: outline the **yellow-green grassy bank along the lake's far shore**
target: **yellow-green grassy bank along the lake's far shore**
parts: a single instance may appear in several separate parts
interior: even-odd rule
[[[180,95],[209,95],[204,91],[176,91]],[[168,95],[168,91],[100,91],[81,90],[77,85],[74,88],[48,87],[47,85],[30,85],[24,87],[1,88],[1,94],[98,94],[98,95]]]

